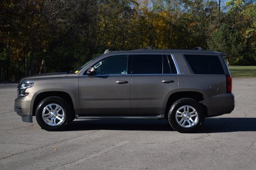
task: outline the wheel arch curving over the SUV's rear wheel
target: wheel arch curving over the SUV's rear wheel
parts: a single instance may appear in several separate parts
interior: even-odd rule
[[[164,112],[164,118],[167,118],[168,112],[172,104],[176,102],[177,100],[181,98],[191,98],[196,100],[197,102],[200,103],[202,108],[204,109],[205,116],[208,115],[208,108],[206,105],[206,100],[204,95],[201,92],[196,92],[196,91],[182,91],[182,92],[174,92],[169,95],[169,97],[166,99],[165,106],[163,107],[163,112]]]

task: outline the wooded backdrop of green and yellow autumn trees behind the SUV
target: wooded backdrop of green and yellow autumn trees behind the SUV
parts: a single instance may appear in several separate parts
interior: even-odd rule
[[[70,71],[110,50],[192,49],[256,65],[253,0],[2,0],[0,81]]]

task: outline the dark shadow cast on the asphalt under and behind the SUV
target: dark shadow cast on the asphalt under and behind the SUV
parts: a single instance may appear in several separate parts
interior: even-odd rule
[[[79,120],[70,123],[65,131],[119,130],[119,131],[174,131],[165,119],[105,119]],[[223,133],[256,131],[256,118],[206,118],[196,133]]]

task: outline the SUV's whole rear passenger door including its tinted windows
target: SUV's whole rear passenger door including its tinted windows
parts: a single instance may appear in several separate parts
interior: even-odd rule
[[[178,92],[178,71],[170,53],[132,55],[132,114],[164,114],[166,97]]]

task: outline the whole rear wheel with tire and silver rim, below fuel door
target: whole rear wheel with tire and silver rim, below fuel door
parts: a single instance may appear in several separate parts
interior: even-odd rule
[[[203,109],[196,100],[182,98],[171,106],[168,121],[180,133],[195,132],[204,123]]]

